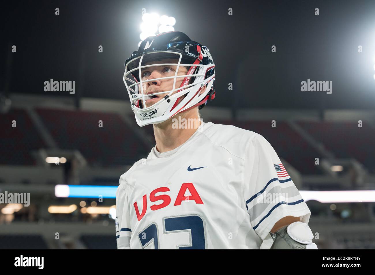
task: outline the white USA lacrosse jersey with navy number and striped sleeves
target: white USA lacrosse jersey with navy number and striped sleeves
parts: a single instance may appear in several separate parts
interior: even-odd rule
[[[263,136],[202,122],[181,146],[153,147],[121,175],[117,248],[268,249],[277,221],[310,215]]]

